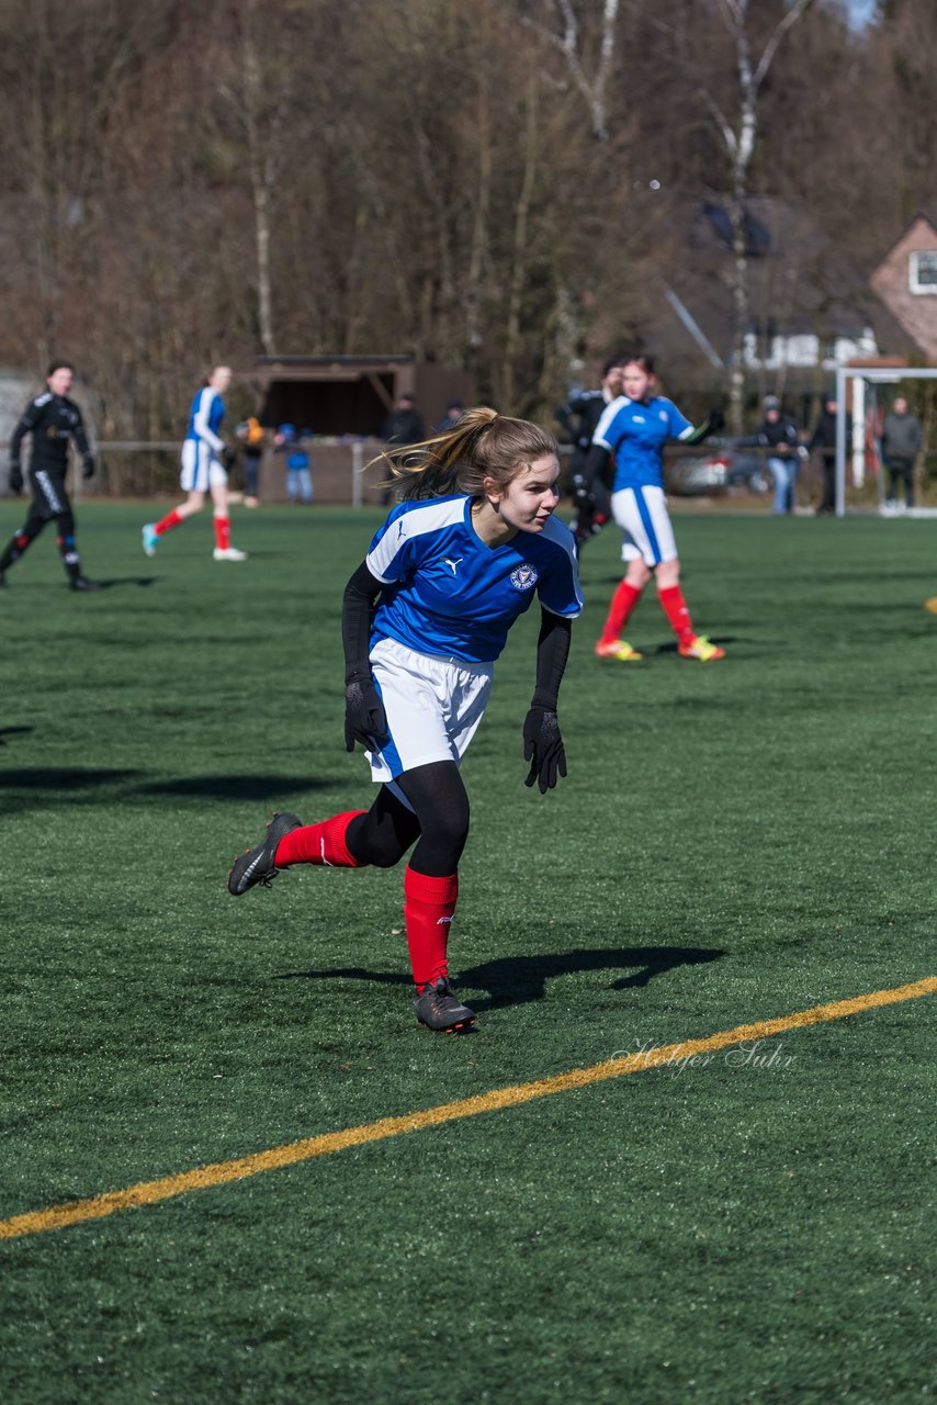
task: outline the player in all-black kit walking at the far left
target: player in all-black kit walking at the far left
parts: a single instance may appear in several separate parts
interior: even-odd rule
[[[4,572],[18,561],[30,542],[35,541],[46,523],[56,524],[56,541],[62,565],[72,590],[98,590],[97,580],[81,575],[81,563],[74,545],[74,514],[65,490],[69,466],[69,444],[74,440],[84,462],[84,478],[94,472],[94,455],[89,447],[81,412],[69,400],[74,368],[67,361],[53,361],[45,378],[48,389],[31,400],[10,440],[10,489],[22,492],[22,440],[32,436],[30,454],[30,492],[32,502],[24,525],[0,555],[0,586],[6,586]]]

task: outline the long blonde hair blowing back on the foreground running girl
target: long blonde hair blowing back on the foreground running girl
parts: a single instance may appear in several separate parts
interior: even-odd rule
[[[445,434],[399,450],[391,445],[372,464],[391,468],[399,502],[451,493],[480,497],[486,478],[503,492],[521,469],[548,454],[558,457],[559,448],[546,430],[480,405],[465,410]]]

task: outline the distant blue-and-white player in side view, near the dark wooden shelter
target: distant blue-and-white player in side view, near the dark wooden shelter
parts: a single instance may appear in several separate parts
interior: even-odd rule
[[[143,527],[143,551],[148,556],[156,554],[156,544],[173,527],[187,517],[201,513],[205,495],[211,493],[215,525],[215,561],[246,561],[247,554],[230,544],[230,511],[228,507],[228,469],[235,461],[235,451],[221,437],[221,423],[225,417],[222,395],[230,385],[230,367],[215,365],[205,384],[195,392],[188,414],[188,429],[183,443],[183,471],[180,486],[188,495],[184,503],[174,507],[157,523]]]

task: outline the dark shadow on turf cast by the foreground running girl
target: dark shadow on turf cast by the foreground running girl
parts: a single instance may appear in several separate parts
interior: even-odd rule
[[[487,999],[472,999],[476,1014],[510,1005],[527,1005],[546,996],[546,982],[553,976],[579,975],[583,971],[621,971],[638,967],[634,975],[620,976],[610,991],[645,986],[657,975],[681,965],[702,965],[725,955],[708,947],[615,947],[611,950],[583,950],[549,953],[531,957],[500,957],[482,965],[468,967],[458,974],[458,985],[487,991]],[[376,985],[409,985],[410,976],[389,971],[368,971],[365,967],[332,967],[325,971],[282,971],[275,981],[309,979],[371,981]],[[469,998],[471,999],[471,998]]]

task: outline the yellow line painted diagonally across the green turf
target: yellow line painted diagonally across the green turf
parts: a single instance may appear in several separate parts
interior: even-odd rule
[[[325,1132],[322,1137],[288,1142],[284,1146],[273,1146],[270,1151],[254,1152],[251,1156],[239,1156],[236,1161],[198,1166],[195,1170],[163,1176],[160,1180],[143,1180],[125,1190],[111,1190],[104,1196],[94,1196],[91,1200],[76,1200],[67,1205],[52,1205],[48,1210],[32,1210],[22,1215],[13,1215],[10,1220],[0,1220],[0,1239],[44,1234],[46,1229],[63,1229],[66,1225],[80,1224],[84,1220],[101,1220],[118,1210],[155,1205],[160,1200],[184,1196],[190,1190],[223,1186],[229,1180],[243,1180],[246,1176],[257,1176],[263,1170],[292,1166],[299,1161],[309,1161],[312,1156],[329,1156],[336,1151],[347,1151],[348,1146],[364,1146],[367,1142],[382,1141],[385,1137],[400,1137],[403,1132],[416,1132],[424,1127],[438,1127],[440,1123],[450,1123],[458,1117],[475,1117],[478,1113],[493,1113],[502,1107],[517,1107],[535,1097],[568,1093],[570,1089],[587,1087],[610,1078],[624,1078],[627,1073],[659,1068],[663,1064],[688,1059],[697,1054],[711,1054],[732,1044],[743,1044],[746,1040],[770,1038],[805,1024],[841,1020],[848,1014],[858,1014],[861,1010],[871,1010],[879,1005],[895,1005],[898,1000],[913,1000],[919,995],[934,995],[936,992],[937,976],[927,976],[912,985],[899,985],[892,991],[872,991],[851,1000],[815,1005],[811,1010],[782,1014],[777,1020],[739,1024],[733,1030],[722,1030],[719,1034],[709,1034],[701,1040],[683,1040],[680,1044],[666,1044],[638,1054],[628,1054],[624,1058],[607,1059],[604,1064],[593,1064],[590,1068],[573,1068],[568,1073],[542,1078],[535,1083],[496,1087],[490,1093],[478,1093],[475,1097],[464,1097],[458,1103],[427,1107],[421,1113],[382,1117],[376,1123],[364,1123],[360,1127],[347,1127],[340,1132]]]

